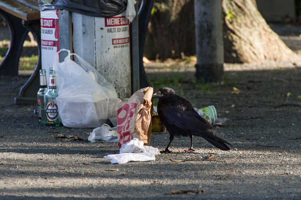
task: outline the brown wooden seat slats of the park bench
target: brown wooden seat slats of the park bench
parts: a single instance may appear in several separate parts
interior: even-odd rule
[[[40,20],[40,11],[37,11],[32,6],[28,8],[20,2],[20,0],[1,0],[0,9],[25,21]]]

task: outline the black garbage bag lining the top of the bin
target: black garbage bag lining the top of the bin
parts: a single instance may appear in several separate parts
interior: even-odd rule
[[[39,0],[40,11],[63,9],[92,17],[113,17],[126,10],[127,0],[53,0],[44,4]]]

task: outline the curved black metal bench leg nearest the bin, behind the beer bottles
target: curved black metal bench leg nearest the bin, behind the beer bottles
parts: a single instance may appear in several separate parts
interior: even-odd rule
[[[41,64],[41,25],[40,21],[22,21],[23,26],[30,32],[38,43],[39,59],[36,69],[30,76],[28,81],[20,89],[19,97],[15,98],[15,104],[36,104],[37,93],[40,85],[39,70],[42,69]]]

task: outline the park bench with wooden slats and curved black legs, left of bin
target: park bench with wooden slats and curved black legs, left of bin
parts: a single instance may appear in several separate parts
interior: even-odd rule
[[[29,31],[38,43],[39,59],[36,68],[20,89],[19,97],[15,98],[15,104],[34,104],[39,90],[39,69],[41,69],[41,26],[38,0],[0,0],[0,15],[11,32],[10,47],[0,64],[0,75],[18,75],[20,53]]]

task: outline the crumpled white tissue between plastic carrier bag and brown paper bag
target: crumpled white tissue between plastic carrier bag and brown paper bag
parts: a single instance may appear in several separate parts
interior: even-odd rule
[[[106,142],[118,142],[117,127],[111,128],[104,124],[101,127],[95,128],[88,137],[88,141],[96,142],[95,140],[102,140]]]

